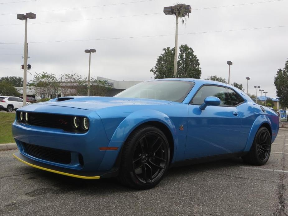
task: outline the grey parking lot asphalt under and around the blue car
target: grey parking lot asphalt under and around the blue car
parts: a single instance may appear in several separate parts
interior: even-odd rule
[[[240,158],[177,167],[150,190],[29,167],[0,152],[0,215],[287,215],[288,129],[264,166]]]

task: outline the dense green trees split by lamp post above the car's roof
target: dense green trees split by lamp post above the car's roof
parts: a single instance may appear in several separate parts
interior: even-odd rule
[[[155,66],[150,70],[155,79],[173,78],[174,77],[174,48],[163,49],[164,53],[158,56]],[[177,61],[177,77],[196,78],[201,77],[201,68],[199,59],[194,51],[188,45],[179,47]]]

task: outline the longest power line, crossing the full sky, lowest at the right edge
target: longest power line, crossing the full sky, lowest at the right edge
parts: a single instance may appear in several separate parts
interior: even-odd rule
[[[271,29],[271,28],[281,28],[287,26],[269,26],[269,27],[258,27],[258,28],[246,28],[246,29],[229,29],[229,30],[219,30],[219,31],[203,31],[203,32],[191,32],[191,33],[182,33],[178,35],[194,35],[194,34],[205,34],[205,33],[218,33],[218,32],[228,32],[228,31],[244,31],[244,30],[254,30],[254,29]],[[163,36],[172,36],[175,34],[168,35],[145,35],[145,36],[132,36],[132,37],[119,37],[119,38],[97,38],[97,39],[83,39],[83,40],[56,40],[56,41],[34,41],[29,42],[29,44],[34,43],[56,43],[56,42],[76,42],[76,41],[90,41],[90,40],[115,40],[115,39],[131,39],[131,38],[147,38],[147,37],[163,37]],[[22,44],[23,42],[13,42],[13,43],[0,43],[0,44]]]

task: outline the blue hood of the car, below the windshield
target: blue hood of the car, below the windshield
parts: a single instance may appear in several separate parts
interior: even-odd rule
[[[45,106],[64,106],[85,110],[99,110],[112,106],[131,106],[131,105],[161,105],[168,104],[171,101],[142,99],[142,98],[119,98],[119,97],[97,97],[97,96],[77,96],[77,97],[61,97],[42,103],[34,103],[33,105]]]

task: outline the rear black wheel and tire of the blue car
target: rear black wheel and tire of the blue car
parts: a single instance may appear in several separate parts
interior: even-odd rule
[[[264,165],[271,153],[271,136],[267,128],[260,128],[254,138],[249,153],[242,157],[245,163],[251,165]]]

